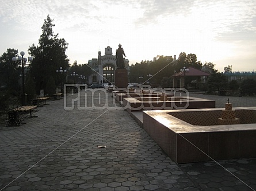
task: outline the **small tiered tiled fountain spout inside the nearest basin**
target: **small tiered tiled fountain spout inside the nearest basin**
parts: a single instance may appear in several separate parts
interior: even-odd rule
[[[240,124],[240,119],[235,117],[235,111],[232,110],[230,99],[225,104],[225,110],[222,111],[221,118],[218,119],[219,125],[223,124]]]

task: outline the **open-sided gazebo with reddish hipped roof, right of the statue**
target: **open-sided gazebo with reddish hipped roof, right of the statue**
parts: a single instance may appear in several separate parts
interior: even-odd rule
[[[181,69],[180,72],[175,73],[172,77],[173,79],[173,87],[174,88],[183,88],[186,86],[185,77],[186,76],[197,76],[195,81],[196,84],[200,83],[201,77],[210,76],[209,73],[200,71],[200,69],[196,69],[193,67],[189,67],[186,69]]]

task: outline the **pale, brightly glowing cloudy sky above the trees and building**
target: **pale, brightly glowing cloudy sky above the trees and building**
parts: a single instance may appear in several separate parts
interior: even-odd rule
[[[115,54],[129,64],[181,52],[213,63],[220,72],[256,71],[255,0],[0,0],[0,54],[37,45],[47,15],[68,42],[70,64]]]

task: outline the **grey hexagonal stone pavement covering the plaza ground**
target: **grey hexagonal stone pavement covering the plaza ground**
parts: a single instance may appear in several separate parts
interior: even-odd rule
[[[256,190],[255,158],[177,165],[104,94],[81,95],[80,110],[51,101],[20,127],[2,125],[0,190]]]

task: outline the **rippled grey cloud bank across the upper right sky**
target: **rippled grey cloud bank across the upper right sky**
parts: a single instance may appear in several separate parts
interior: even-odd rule
[[[194,23],[198,30],[211,28],[213,32],[226,33],[233,30],[253,29],[255,22],[251,17],[256,14],[254,9],[256,2],[250,0],[226,2],[140,0],[137,3],[143,11],[142,17],[135,21],[137,27],[157,24],[161,20],[170,18],[176,25],[181,25],[178,20],[183,20],[184,25]]]

